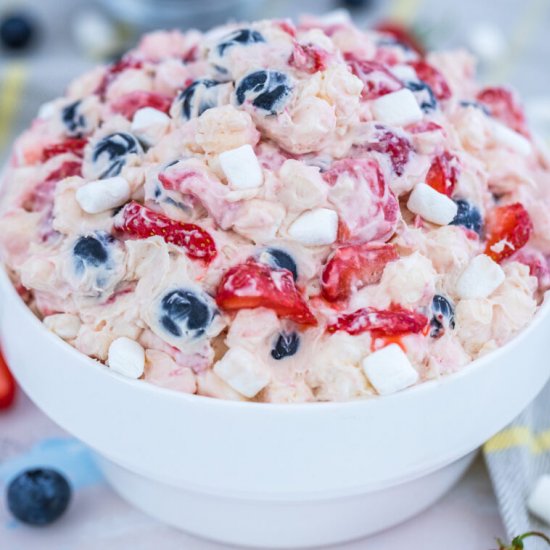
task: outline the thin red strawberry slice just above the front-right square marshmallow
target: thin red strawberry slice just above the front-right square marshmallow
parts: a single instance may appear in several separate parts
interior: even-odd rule
[[[428,318],[400,306],[390,309],[362,308],[353,313],[340,315],[336,322],[328,325],[328,332],[345,330],[355,336],[369,331],[375,338],[417,334],[428,324]]]

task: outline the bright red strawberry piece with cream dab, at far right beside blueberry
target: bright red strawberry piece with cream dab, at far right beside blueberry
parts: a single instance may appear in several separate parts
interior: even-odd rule
[[[493,208],[485,219],[485,254],[501,262],[524,247],[532,231],[531,218],[521,203]]]

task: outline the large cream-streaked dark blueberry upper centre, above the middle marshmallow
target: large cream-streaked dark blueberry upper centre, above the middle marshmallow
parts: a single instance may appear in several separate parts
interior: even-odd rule
[[[239,105],[250,99],[254,107],[275,115],[282,110],[291,91],[290,81],[284,73],[256,71],[239,82],[235,95]]]

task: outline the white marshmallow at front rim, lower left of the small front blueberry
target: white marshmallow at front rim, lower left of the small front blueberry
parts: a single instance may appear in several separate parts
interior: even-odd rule
[[[252,398],[270,381],[269,371],[244,348],[230,348],[214,365],[214,372],[235,391]]]

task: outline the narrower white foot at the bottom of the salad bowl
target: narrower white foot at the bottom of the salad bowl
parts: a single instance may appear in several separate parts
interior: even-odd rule
[[[262,548],[307,548],[359,539],[411,518],[442,497],[475,452],[384,490],[330,499],[227,498],[169,486],[96,455],[115,491],[136,508],[193,535]]]

